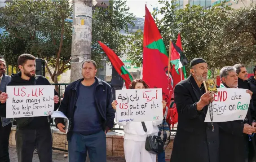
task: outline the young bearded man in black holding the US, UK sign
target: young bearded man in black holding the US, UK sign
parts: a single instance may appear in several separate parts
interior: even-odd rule
[[[44,76],[35,75],[35,57],[31,54],[22,54],[18,58],[18,68],[21,72],[12,74],[11,82],[7,86],[51,85]],[[6,90],[5,90],[6,92]],[[8,94],[0,95],[0,116],[6,115],[6,99]],[[54,94],[54,110],[59,106],[57,92]],[[18,162],[32,162],[34,149],[36,148],[40,162],[52,162],[52,133],[48,116],[15,118],[16,149]]]

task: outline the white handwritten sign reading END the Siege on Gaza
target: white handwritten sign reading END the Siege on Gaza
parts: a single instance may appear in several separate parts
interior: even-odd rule
[[[249,109],[251,96],[246,89],[238,88],[217,88],[212,102],[212,116],[208,107],[204,122],[227,122],[233,120],[244,120]]]

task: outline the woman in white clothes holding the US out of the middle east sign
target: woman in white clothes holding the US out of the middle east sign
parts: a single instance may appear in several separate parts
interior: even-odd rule
[[[132,81],[130,89],[145,89],[149,86],[142,80],[136,79]],[[166,106],[166,102],[163,102],[163,108]],[[112,102],[113,109],[116,109],[117,102]],[[158,135],[158,125],[162,121],[145,122],[148,136]],[[133,123],[119,123],[120,126],[124,126],[124,156],[126,162],[156,162],[156,155],[149,153],[145,149],[146,132],[143,130],[141,122]]]

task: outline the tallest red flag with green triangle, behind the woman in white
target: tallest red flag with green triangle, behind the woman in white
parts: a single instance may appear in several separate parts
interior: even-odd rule
[[[150,88],[162,88],[163,100],[169,106],[173,82],[171,74],[168,77],[168,53],[154,19],[146,6],[145,9],[142,79]]]

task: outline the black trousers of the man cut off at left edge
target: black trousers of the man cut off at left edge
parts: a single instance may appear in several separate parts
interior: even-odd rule
[[[3,127],[2,124],[0,124],[0,162],[10,162],[9,136],[10,136],[11,128],[12,128],[12,123],[9,123],[5,127]]]

